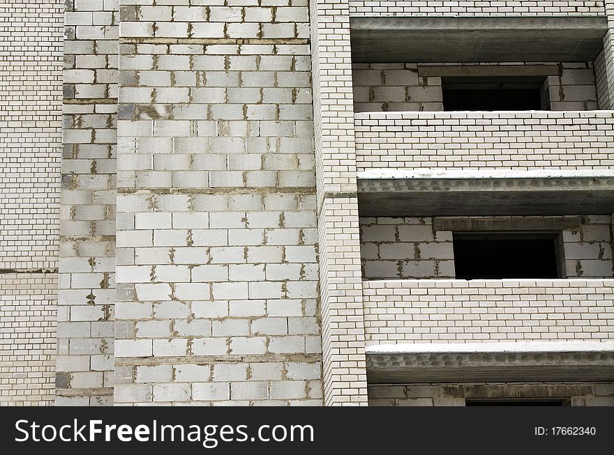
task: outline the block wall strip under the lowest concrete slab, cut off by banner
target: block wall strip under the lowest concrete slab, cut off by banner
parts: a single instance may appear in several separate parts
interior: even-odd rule
[[[465,400],[567,399],[571,406],[613,406],[614,383],[370,384],[370,406],[465,406]]]

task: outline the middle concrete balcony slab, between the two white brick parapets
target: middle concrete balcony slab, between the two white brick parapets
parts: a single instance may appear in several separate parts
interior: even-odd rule
[[[614,177],[359,179],[361,217],[611,215]]]

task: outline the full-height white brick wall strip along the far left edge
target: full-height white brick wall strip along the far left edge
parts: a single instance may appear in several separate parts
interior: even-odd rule
[[[54,403],[61,0],[0,0],[0,406]]]

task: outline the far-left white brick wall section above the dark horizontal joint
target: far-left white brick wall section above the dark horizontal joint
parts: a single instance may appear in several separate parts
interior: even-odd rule
[[[0,268],[56,268],[61,0],[0,0]]]

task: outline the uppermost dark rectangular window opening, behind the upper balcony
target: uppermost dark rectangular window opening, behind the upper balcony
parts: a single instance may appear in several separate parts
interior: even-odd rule
[[[544,78],[445,77],[444,111],[539,111]],[[549,104],[549,103],[548,103]]]

